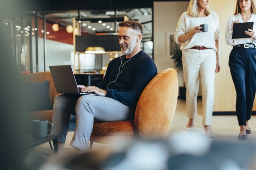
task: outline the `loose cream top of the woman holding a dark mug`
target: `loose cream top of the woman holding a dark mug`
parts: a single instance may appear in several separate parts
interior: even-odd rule
[[[217,48],[215,46],[215,40],[221,38],[221,31],[219,27],[219,19],[217,13],[211,11],[211,13],[207,17],[191,17],[188,12],[184,12],[177,23],[176,32],[174,35],[174,41],[177,44],[178,37],[181,35],[187,34],[190,30],[194,29],[194,27],[199,26],[201,24],[208,25],[208,31],[197,33],[192,38],[187,40],[184,43],[181,43],[180,50],[184,51],[194,46],[205,46],[207,48],[212,48],[217,52]]]

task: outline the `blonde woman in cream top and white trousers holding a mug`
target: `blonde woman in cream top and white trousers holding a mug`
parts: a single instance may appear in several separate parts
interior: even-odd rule
[[[207,27],[200,27],[201,24]],[[208,29],[206,29],[208,28]],[[187,131],[194,129],[197,116],[199,77],[202,84],[203,122],[208,137],[214,137],[211,119],[214,103],[215,72],[220,71],[219,19],[209,9],[209,0],[190,0],[177,23],[174,40],[181,44],[184,80],[187,87]]]

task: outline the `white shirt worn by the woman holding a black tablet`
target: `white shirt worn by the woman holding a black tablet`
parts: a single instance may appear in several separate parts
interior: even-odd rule
[[[236,38],[232,39],[233,31],[231,30],[232,23],[234,21],[244,22],[240,13],[233,15],[232,17],[228,18],[226,23],[226,32],[225,32],[225,40],[227,45],[239,45],[250,43],[256,45],[256,40],[254,38]],[[256,15],[252,13],[251,18],[247,22],[254,22],[253,30],[256,30]]]

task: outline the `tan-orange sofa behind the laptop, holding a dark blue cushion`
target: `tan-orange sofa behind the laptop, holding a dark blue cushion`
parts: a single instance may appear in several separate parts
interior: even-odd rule
[[[39,107],[39,109],[30,109],[29,115],[30,115],[31,120],[47,119],[49,122],[52,122],[53,102],[54,102],[55,97],[59,93],[57,93],[57,91],[55,89],[55,86],[54,86],[54,83],[53,83],[53,80],[51,77],[51,73],[50,72],[36,72],[36,73],[32,73],[32,74],[27,74],[27,75],[21,75],[21,78],[22,78],[23,82],[26,82],[27,85],[30,86],[30,88],[31,88],[31,86],[33,86],[33,87],[41,86],[44,81],[47,81],[46,82],[47,84],[49,83],[49,86],[46,89],[46,90],[48,90],[48,94],[49,94],[49,98],[48,98],[49,106],[47,106],[47,107],[42,106],[42,107]],[[45,93],[45,91],[42,91],[42,90],[39,91],[39,90],[36,90],[36,88],[32,88],[31,90],[29,89],[30,93],[33,93],[32,91],[35,93],[37,93],[37,92]],[[42,95],[35,94],[35,95],[37,95],[38,97],[41,97],[44,94],[42,94]],[[47,94],[45,94],[45,95],[47,96]],[[46,109],[44,109],[43,107],[45,107]]]

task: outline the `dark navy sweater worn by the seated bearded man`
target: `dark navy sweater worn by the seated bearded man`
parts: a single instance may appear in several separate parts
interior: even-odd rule
[[[157,67],[148,54],[143,51],[131,57],[130,61],[126,55],[122,55],[121,59],[122,64],[120,57],[108,63],[106,75],[98,88],[107,90],[106,97],[113,98],[135,110],[143,89],[157,75]],[[120,70],[124,65],[122,72],[118,75],[120,64]],[[115,82],[109,84],[111,81]]]

